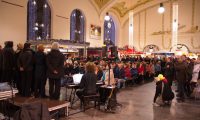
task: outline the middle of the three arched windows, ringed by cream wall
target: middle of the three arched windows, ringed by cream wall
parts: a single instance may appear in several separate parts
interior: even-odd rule
[[[73,10],[70,17],[70,40],[83,43],[84,27],[85,18],[83,13],[78,9]]]

